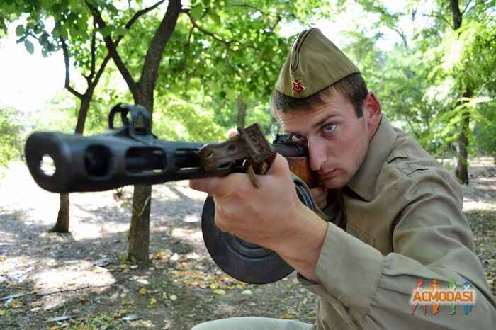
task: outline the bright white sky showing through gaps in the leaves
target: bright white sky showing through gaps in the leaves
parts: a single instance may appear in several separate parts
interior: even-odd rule
[[[402,1],[388,1],[390,11],[402,10]],[[340,35],[342,30],[351,27],[351,20],[363,16],[360,6],[351,6],[347,13],[339,15],[339,23],[323,21],[317,23],[317,28],[333,40],[338,46],[346,44],[344,35]],[[418,24],[418,20],[416,21]],[[423,23],[423,22],[422,22]],[[409,33],[412,30],[412,22],[405,18],[402,21],[402,28]],[[30,55],[24,45],[16,44],[15,29],[18,22],[9,26],[8,38],[0,40],[0,106],[12,106],[23,112],[43,110],[45,102],[49,101],[57,91],[64,89],[64,59],[62,51],[50,57],[43,58],[40,54],[40,47],[37,42],[35,52]],[[303,27],[294,23],[283,26],[281,33],[291,35]],[[382,30],[383,40],[379,47],[383,50],[393,47],[395,42],[399,42],[398,35],[390,30]],[[79,79],[78,74],[72,74],[71,78]]]

